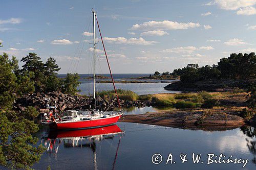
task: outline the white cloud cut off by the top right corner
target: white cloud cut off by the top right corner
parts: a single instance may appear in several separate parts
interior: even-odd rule
[[[214,0],[205,5],[217,5],[224,10],[236,10],[256,4],[256,0]]]

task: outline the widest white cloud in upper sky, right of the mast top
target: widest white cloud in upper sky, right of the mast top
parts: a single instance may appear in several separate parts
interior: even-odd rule
[[[143,23],[136,23],[130,30],[178,30],[200,27],[200,23],[194,22],[176,22],[176,21],[148,21]]]

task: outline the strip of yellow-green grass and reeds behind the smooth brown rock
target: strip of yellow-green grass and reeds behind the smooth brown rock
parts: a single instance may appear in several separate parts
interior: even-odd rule
[[[197,93],[162,93],[162,94],[147,94],[138,95],[131,90],[117,89],[119,99],[129,101],[151,101],[155,106],[169,106],[175,108],[213,108],[220,107],[224,101],[231,101],[238,103],[246,101],[246,92],[240,92],[239,90],[234,92],[206,92],[201,91]],[[98,96],[104,99],[115,98],[116,94],[114,90],[103,90],[97,92]]]

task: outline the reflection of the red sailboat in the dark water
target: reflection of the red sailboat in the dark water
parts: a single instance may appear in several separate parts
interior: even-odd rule
[[[114,168],[123,133],[117,125],[75,131],[50,131],[41,142],[47,147],[47,152],[55,154],[56,157],[61,143],[64,148],[90,148],[94,155],[94,168],[97,169],[96,142],[113,139],[115,135],[120,135],[112,167]]]

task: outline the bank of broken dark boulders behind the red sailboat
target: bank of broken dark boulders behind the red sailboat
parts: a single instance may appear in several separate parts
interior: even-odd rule
[[[56,104],[55,104],[56,103]],[[113,110],[118,107],[118,102],[114,99],[104,100],[102,98],[97,98],[97,105],[100,105],[102,110],[105,110],[109,107],[109,110]],[[14,104],[13,109],[16,111],[24,111],[26,107],[32,106],[36,108],[40,113],[46,111],[46,105],[55,106],[59,111],[65,109],[90,109],[95,105],[93,98],[83,95],[70,95],[64,94],[60,91],[54,91],[49,93],[37,92],[32,94],[24,94],[22,98],[18,98]],[[132,106],[151,106],[150,101],[125,101],[120,100],[120,105],[123,108],[132,107]]]

